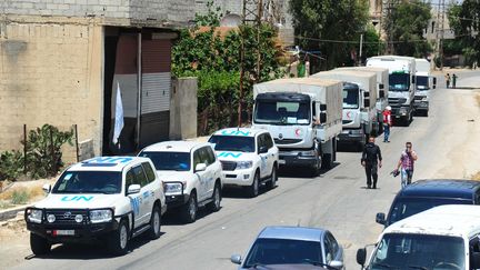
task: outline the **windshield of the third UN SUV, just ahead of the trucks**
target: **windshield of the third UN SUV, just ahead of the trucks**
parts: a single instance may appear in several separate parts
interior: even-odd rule
[[[209,140],[216,151],[254,152],[254,138],[240,136],[212,136]]]

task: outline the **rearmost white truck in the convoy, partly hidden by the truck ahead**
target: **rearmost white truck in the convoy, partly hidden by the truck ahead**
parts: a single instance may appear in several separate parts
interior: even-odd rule
[[[428,117],[430,89],[437,88],[437,78],[431,76],[430,62],[427,59],[416,58],[417,91],[414,108],[418,113]]]

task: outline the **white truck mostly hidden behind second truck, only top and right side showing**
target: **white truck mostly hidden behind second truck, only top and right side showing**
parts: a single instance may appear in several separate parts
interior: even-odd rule
[[[386,68],[373,67],[347,67],[337,68],[336,70],[357,70],[363,72],[374,72],[377,74],[377,120],[379,130],[377,134],[383,132],[383,110],[388,103],[389,89],[389,70]]]

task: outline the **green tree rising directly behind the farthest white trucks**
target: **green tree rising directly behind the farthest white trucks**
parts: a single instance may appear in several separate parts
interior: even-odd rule
[[[383,24],[393,53],[423,58],[432,51],[431,44],[423,38],[431,19],[430,3],[420,0],[402,1],[391,10]]]

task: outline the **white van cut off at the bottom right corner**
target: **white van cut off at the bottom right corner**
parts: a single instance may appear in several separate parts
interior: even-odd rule
[[[362,269],[480,269],[480,207],[440,206],[389,226],[357,251]]]

